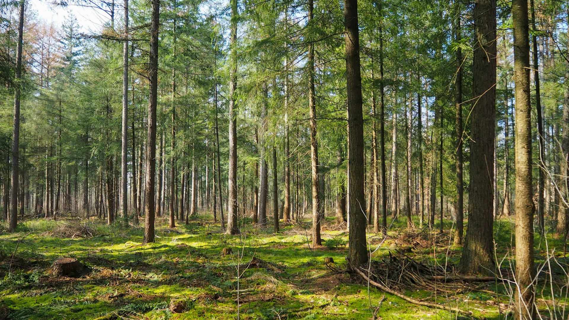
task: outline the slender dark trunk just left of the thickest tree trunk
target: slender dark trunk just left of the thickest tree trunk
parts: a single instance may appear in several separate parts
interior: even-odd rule
[[[460,27],[460,13],[462,12],[460,2],[456,2],[455,20],[455,41],[458,43],[462,39]],[[456,228],[454,244],[460,245],[464,235],[464,180],[463,180],[463,123],[462,123],[462,64],[463,56],[460,47],[456,50],[455,66],[455,138],[456,138]]]

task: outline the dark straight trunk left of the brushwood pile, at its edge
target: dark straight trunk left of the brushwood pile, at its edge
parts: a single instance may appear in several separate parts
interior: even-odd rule
[[[344,3],[346,42],[346,83],[348,92],[348,185],[349,240],[348,257],[353,265],[368,261],[364,206],[364,120],[362,116],[360,35],[358,34],[357,0]]]

